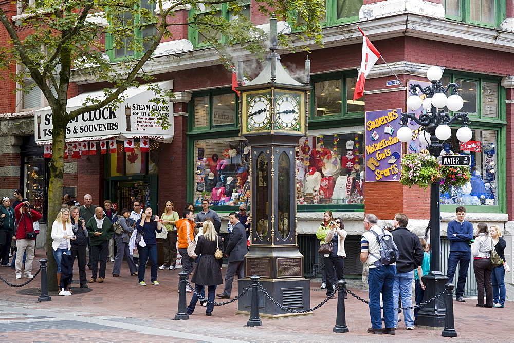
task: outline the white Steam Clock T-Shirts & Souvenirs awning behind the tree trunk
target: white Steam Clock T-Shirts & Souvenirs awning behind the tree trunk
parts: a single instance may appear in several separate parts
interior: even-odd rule
[[[159,83],[161,88],[173,87],[173,81]],[[124,92],[127,96],[118,108],[106,106],[94,111],[82,113],[71,120],[66,127],[66,141],[95,141],[106,138],[151,138],[170,143],[173,139],[173,103],[167,105],[155,104],[150,99],[155,98],[155,92],[144,85],[140,88],[130,88]],[[101,98],[103,91],[80,94],[68,100],[68,112],[83,106],[87,97]],[[158,111],[166,116],[170,127],[164,130],[151,111]],[[52,141],[53,113],[50,107],[35,112],[35,141],[38,144],[49,144]]]

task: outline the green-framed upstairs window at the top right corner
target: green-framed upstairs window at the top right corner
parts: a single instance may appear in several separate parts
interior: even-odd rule
[[[500,27],[506,16],[505,0],[443,0],[441,3],[446,18],[466,24]]]

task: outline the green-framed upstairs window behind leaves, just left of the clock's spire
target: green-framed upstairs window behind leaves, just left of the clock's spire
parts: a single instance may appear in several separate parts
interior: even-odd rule
[[[230,8],[230,4],[228,3],[212,4],[210,7],[207,7],[207,5],[204,4],[199,4],[199,6],[204,6],[203,10],[192,9],[189,11],[190,21],[194,21],[195,17],[197,16],[204,16],[207,14],[215,17],[221,17],[226,21],[237,20],[238,18],[238,16],[233,15],[233,11]],[[243,7],[244,9],[241,14],[250,18],[250,2],[244,4]],[[216,31],[212,30],[212,33],[214,32]],[[230,41],[230,37],[219,34],[219,32],[216,33],[216,36],[218,37],[218,42],[221,44],[227,44]],[[194,24],[189,26],[188,38],[195,48],[210,46],[210,44],[205,41],[205,37],[197,30],[196,25]]]

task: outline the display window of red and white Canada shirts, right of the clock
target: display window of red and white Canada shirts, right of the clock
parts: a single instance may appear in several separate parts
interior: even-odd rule
[[[296,164],[298,204],[364,202],[362,132],[300,140]]]

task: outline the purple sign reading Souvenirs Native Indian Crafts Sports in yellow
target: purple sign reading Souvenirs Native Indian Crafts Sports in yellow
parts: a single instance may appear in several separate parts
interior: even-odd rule
[[[399,181],[401,142],[401,108],[366,112],[365,180]]]

